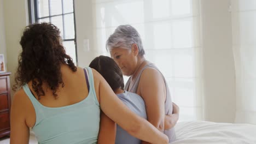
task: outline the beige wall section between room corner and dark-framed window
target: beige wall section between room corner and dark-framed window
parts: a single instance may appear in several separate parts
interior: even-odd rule
[[[5,45],[7,50],[7,70],[11,72],[11,86],[14,82],[14,74],[18,65],[18,55],[21,50],[19,44],[22,29],[28,23],[27,0],[3,1]],[[13,92],[11,92],[13,95]]]

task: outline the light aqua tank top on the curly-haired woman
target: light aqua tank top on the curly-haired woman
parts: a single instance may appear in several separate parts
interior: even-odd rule
[[[100,128],[100,104],[98,103],[94,79],[90,68],[85,76],[89,77],[89,94],[84,100],[63,107],[46,107],[34,98],[28,85],[23,89],[30,98],[36,111],[36,123],[32,128],[40,144],[97,143]],[[75,95],[74,95],[75,97]]]

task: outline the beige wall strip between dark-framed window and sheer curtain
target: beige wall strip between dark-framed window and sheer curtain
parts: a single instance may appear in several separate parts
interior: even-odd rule
[[[88,67],[92,59],[98,53],[94,45],[94,23],[92,13],[92,0],[75,0],[75,26],[77,34],[77,57],[78,65],[80,67]],[[85,41],[89,40],[89,47],[86,46]]]

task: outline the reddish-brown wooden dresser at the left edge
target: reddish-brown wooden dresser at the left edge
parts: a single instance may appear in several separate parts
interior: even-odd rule
[[[10,76],[0,73],[0,137],[10,135]]]

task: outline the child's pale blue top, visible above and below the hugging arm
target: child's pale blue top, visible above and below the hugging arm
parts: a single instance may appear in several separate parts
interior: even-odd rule
[[[125,91],[124,93],[117,94],[118,98],[129,107],[132,112],[135,112],[138,116],[147,119],[146,108],[144,100],[136,93]],[[141,140],[131,136],[124,129],[117,125],[117,135],[115,137],[116,144],[140,144]]]

